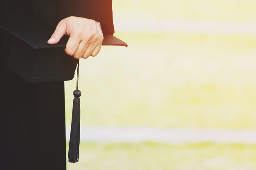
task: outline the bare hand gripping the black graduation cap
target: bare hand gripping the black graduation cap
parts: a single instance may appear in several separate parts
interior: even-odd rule
[[[57,44],[63,35],[70,36],[65,53],[76,59],[96,56],[103,42],[99,22],[87,18],[71,16],[61,20],[47,43]]]

